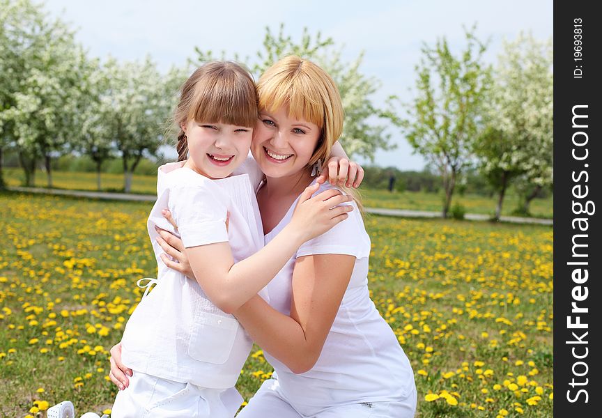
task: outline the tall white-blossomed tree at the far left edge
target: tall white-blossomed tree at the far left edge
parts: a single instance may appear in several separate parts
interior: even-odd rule
[[[51,157],[73,135],[79,69],[86,57],[61,20],[50,20],[26,0],[7,7],[1,38],[10,81],[2,81],[8,86],[2,119],[10,132],[3,137],[17,146],[26,185],[33,185],[36,160],[43,157],[52,187]]]

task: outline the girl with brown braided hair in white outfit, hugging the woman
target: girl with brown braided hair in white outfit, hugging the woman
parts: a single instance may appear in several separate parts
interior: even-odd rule
[[[123,333],[123,363],[135,373],[116,397],[114,418],[233,417],[242,402],[234,384],[252,340],[231,313],[303,242],[353,210],[339,206],[350,200],[341,192],[311,197],[318,185],[307,187],[291,224],[263,247],[249,175],[231,176],[247,158],[257,121],[254,82],[236,63],[197,69],[183,85],[174,121],[179,162],[160,168],[148,218],[157,286],[145,292]],[[166,209],[179,230],[162,217]],[[179,231],[196,281],[167,268],[157,228]]]

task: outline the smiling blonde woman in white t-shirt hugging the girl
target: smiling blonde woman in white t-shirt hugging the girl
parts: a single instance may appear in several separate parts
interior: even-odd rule
[[[261,121],[251,149],[265,174],[257,201],[269,242],[339,139],[343,109],[330,76],[295,56],[272,65],[257,88]],[[175,247],[163,243],[178,261],[173,268],[192,277],[181,242],[162,236]],[[300,247],[268,285],[270,304],[256,296],[234,313],[275,369],[238,417],[413,417],[410,363],[369,297],[369,252],[354,210]],[[125,378],[118,351],[111,350],[114,382]]]

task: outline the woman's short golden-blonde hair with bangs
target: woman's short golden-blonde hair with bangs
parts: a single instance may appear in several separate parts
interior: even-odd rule
[[[277,61],[257,83],[259,109],[276,111],[288,106],[288,115],[305,119],[321,130],[318,144],[306,169],[330,157],[334,142],[343,133],[343,102],[337,84],[315,63],[290,55]],[[360,194],[356,189],[341,187],[353,196],[363,212]]]

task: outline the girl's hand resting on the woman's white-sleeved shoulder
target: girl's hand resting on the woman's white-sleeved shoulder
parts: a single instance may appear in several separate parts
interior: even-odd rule
[[[322,235],[344,221],[349,216],[348,212],[353,210],[351,205],[341,205],[351,201],[352,197],[342,194],[337,189],[328,189],[312,197],[318,187],[320,185],[314,183],[304,189],[295,206],[291,222],[286,226],[300,232],[303,242]]]

